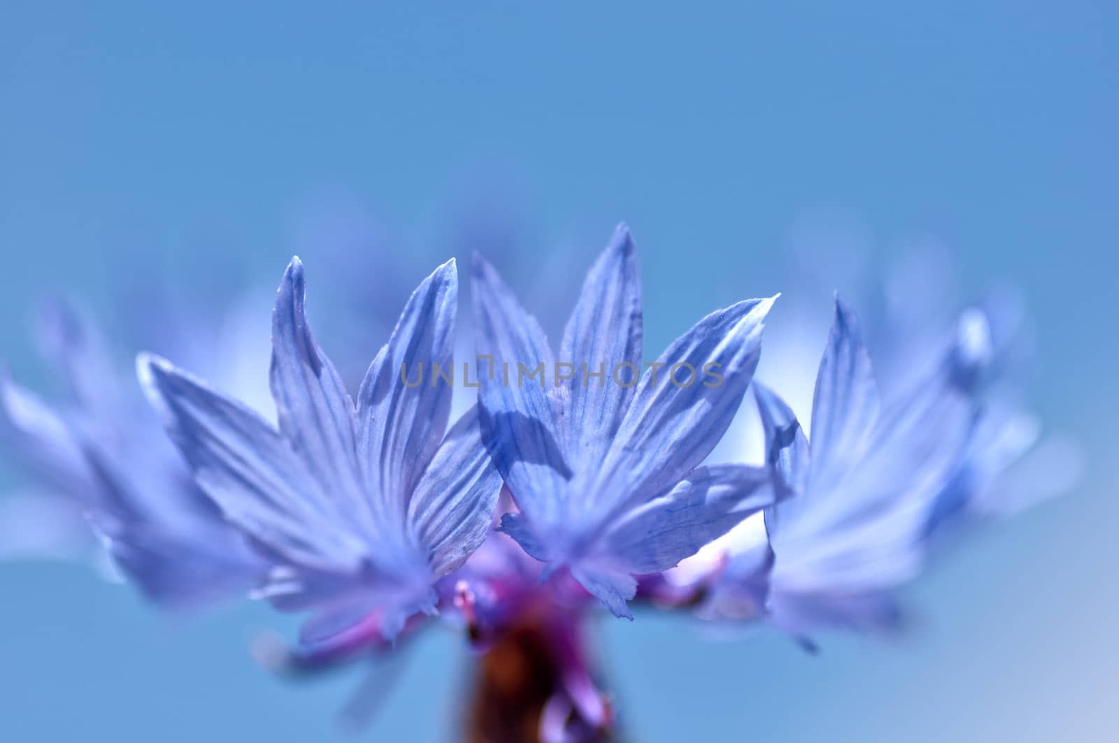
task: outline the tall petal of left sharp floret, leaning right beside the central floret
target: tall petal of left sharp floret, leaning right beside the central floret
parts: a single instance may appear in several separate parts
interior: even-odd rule
[[[358,392],[359,451],[367,481],[388,512],[403,512],[446,431],[452,389],[438,379],[434,365],[452,372],[458,298],[452,258],[412,293]]]

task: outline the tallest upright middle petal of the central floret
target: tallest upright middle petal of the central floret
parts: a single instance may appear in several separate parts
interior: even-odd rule
[[[596,459],[618,431],[641,374],[641,337],[637,250],[629,229],[619,225],[586,275],[560,346],[560,360],[574,367],[564,408],[572,459]],[[623,363],[631,366],[619,367]],[[590,372],[602,365],[601,384],[584,376],[584,364]]]

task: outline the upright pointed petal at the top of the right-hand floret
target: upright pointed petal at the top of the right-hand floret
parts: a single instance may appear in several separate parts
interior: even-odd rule
[[[858,317],[836,295],[835,321],[812,394],[812,487],[829,487],[859,460],[869,445],[878,407]]]

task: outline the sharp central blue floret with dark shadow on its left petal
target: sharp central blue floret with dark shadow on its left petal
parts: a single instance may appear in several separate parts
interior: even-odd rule
[[[500,529],[546,563],[545,577],[567,568],[630,617],[634,575],[773,501],[762,468],[698,467],[750,384],[772,299],[707,316],[639,374],[641,288],[624,226],[592,266],[558,357],[481,257],[472,279],[482,438],[519,508]]]

